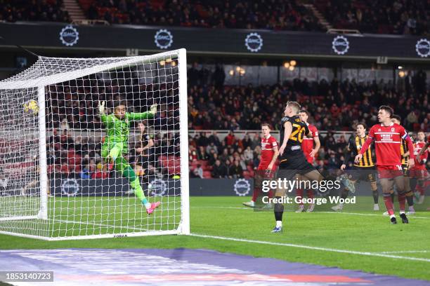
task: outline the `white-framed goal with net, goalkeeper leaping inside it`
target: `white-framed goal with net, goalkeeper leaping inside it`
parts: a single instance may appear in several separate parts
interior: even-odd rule
[[[0,233],[188,234],[186,84],[184,49],[39,57],[0,81]]]

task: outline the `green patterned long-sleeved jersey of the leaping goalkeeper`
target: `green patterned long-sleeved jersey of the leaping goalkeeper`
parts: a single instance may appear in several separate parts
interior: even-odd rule
[[[150,112],[126,113],[123,119],[117,118],[114,114],[100,116],[101,121],[105,124],[106,137],[105,144],[122,143],[126,149],[129,142],[130,121],[153,118],[154,114]]]

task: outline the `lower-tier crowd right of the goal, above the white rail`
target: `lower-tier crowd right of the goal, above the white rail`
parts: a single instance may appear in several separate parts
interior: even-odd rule
[[[311,113],[320,130],[351,130],[358,122],[377,122],[377,107],[391,105],[408,130],[430,131],[426,73],[372,82],[294,79],[273,86],[226,86],[217,71],[191,67],[188,74],[188,128],[196,130],[259,130],[261,123],[277,128],[285,102],[297,100]]]

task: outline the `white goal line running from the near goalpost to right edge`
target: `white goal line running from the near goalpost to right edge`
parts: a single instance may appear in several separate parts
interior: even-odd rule
[[[263,245],[297,247],[297,248],[305,248],[308,250],[320,250],[320,251],[326,251],[326,252],[338,252],[338,253],[346,253],[346,254],[365,255],[365,256],[370,256],[370,257],[386,257],[386,258],[393,258],[393,259],[407,259],[407,260],[413,260],[413,261],[430,262],[430,259],[426,259],[426,258],[403,257],[403,256],[399,256],[399,255],[383,254],[383,253],[377,253],[377,252],[360,252],[360,251],[353,251],[353,250],[337,250],[334,248],[315,247],[315,246],[308,246],[308,245],[296,245],[296,244],[292,244],[292,243],[273,243],[273,242],[262,241],[262,240],[228,238],[228,237],[224,237],[224,236],[207,236],[207,235],[198,234],[198,233],[191,233],[190,236],[196,236],[198,238],[213,238],[213,239],[219,239],[219,240],[231,240],[231,241],[237,241],[240,243],[258,243],[258,244],[263,244]]]

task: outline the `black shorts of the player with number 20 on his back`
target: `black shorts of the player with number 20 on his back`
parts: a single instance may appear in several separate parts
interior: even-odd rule
[[[315,167],[306,160],[303,152],[299,152],[280,159],[278,178],[292,179],[296,174],[304,175],[313,170],[316,170]]]

